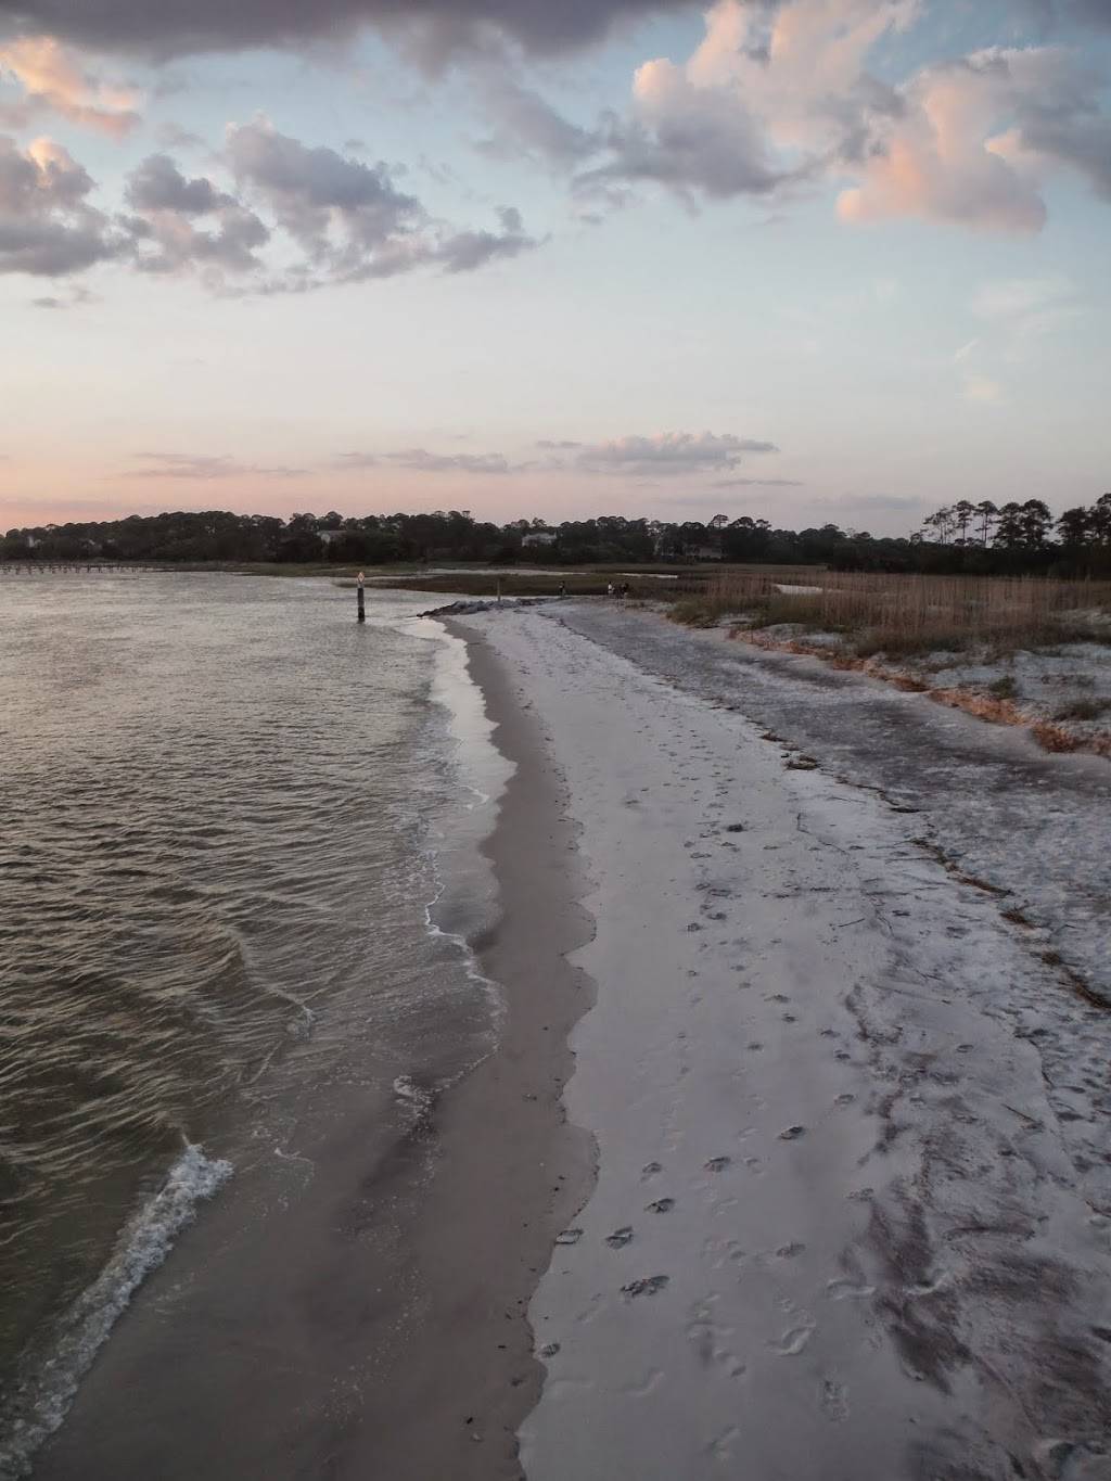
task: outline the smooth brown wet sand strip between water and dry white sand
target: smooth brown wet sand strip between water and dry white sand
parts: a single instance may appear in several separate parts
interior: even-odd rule
[[[567,1035],[590,937],[558,778],[481,646],[471,665],[517,766],[486,850],[501,924],[496,1053],[397,1136],[390,1105],[329,1090],[276,1189],[236,1177],[136,1296],[40,1453],[46,1481],[244,1477],[502,1481],[542,1368],[526,1321],[590,1191],[566,1126]]]

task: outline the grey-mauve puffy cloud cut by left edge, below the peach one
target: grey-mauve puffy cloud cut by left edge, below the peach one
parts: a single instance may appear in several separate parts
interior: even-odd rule
[[[0,274],[65,277],[117,256],[123,241],[87,197],[93,182],[53,139],[21,150],[0,135]]]

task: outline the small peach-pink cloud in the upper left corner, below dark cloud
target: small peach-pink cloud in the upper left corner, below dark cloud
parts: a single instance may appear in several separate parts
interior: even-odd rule
[[[39,113],[56,113],[70,123],[121,139],[139,121],[139,95],[110,86],[87,73],[52,36],[24,36],[0,43],[0,77],[10,73],[24,99],[3,110],[3,121],[27,124]]]

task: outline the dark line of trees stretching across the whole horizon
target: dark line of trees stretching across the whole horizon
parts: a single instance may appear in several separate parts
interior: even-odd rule
[[[138,515],[9,530],[0,560],[167,561],[227,564],[421,561],[545,566],[695,563],[824,564],[837,570],[1111,575],[1111,493],[1053,518],[1038,499],[995,507],[960,499],[910,536],[873,536],[822,524],[776,529],[724,514],[708,523],[598,515],[493,524],[468,509],[433,514],[231,514],[222,509]]]

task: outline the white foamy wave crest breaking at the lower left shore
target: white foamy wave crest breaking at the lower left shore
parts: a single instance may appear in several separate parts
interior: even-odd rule
[[[61,1318],[50,1357],[16,1389],[0,1438],[0,1477],[25,1477],[31,1456],[62,1423],[77,1386],[144,1280],[157,1269],[197,1206],[231,1176],[231,1163],[187,1143],[166,1182],[124,1225],[96,1280]]]

